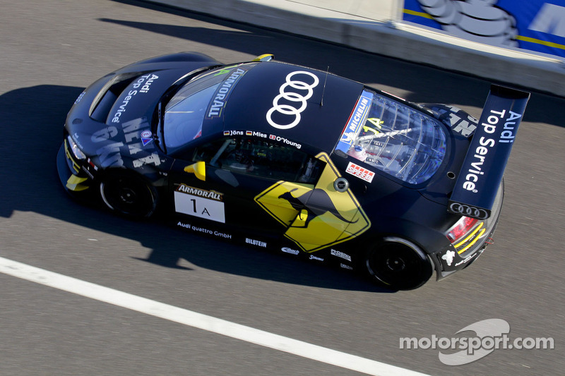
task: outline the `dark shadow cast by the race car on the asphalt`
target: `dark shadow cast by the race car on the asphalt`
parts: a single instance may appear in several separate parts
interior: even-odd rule
[[[4,143],[0,157],[3,195],[0,217],[10,218],[14,211],[37,212],[112,236],[129,238],[150,249],[147,257],[137,258],[140,262],[186,272],[191,272],[191,268],[179,265],[182,260],[222,273],[287,284],[393,292],[347,271],[188,234],[158,218],[132,222],[114,216],[102,207],[81,205],[72,200],[61,186],[55,159],[62,142],[66,112],[82,90],[81,87],[39,85],[0,96]],[[69,237],[69,242],[72,241]]]

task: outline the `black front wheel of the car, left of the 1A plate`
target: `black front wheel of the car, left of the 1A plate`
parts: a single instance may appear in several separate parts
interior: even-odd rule
[[[107,174],[100,183],[100,197],[112,211],[130,219],[145,219],[157,209],[157,190],[140,176]]]

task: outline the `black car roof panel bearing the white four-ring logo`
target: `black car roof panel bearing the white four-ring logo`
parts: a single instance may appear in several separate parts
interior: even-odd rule
[[[222,131],[260,132],[330,153],[363,88],[361,83],[311,68],[256,63],[233,87]]]

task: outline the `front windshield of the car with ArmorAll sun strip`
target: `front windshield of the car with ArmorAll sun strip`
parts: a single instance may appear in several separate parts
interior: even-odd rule
[[[207,120],[222,116],[233,87],[248,69],[215,69],[189,81],[173,95],[163,116],[163,138],[169,154],[200,137]]]

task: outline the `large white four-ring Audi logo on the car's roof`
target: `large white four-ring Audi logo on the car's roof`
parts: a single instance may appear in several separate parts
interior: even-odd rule
[[[304,81],[292,80],[295,75],[309,75],[314,79],[314,83],[305,83]],[[320,80],[314,73],[307,71],[295,71],[287,74],[286,82],[280,85],[279,95],[273,99],[273,107],[267,111],[268,123],[278,129],[290,129],[300,122],[300,113],[306,109],[306,101],[314,94],[314,87],[318,86]],[[292,87],[295,90],[307,90],[307,95],[302,95],[294,91],[285,91],[287,87]],[[286,99],[290,102],[297,102],[300,106],[297,108],[290,104],[279,104],[280,99]],[[280,114],[294,116],[295,119],[288,124],[278,124],[273,121],[273,112],[277,111]]]

